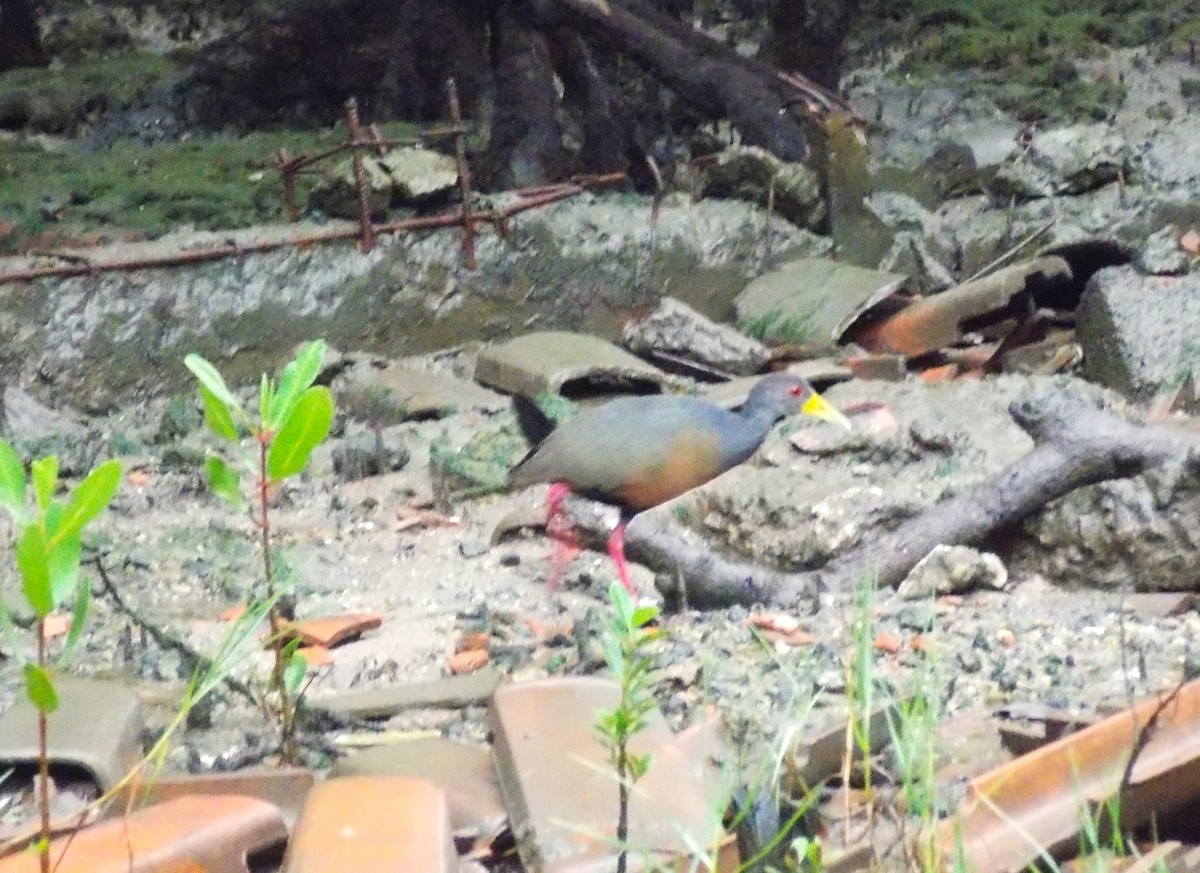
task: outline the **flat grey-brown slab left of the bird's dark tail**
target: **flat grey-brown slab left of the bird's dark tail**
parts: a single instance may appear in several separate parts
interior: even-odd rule
[[[372,426],[414,419],[442,419],[451,413],[494,413],[506,398],[467,379],[415,366],[359,359],[334,379],[337,408]]]

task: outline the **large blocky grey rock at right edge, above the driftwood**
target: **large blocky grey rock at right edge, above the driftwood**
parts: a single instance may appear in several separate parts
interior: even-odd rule
[[[1079,303],[1085,373],[1130,397],[1148,398],[1200,375],[1200,276],[1099,270]]]

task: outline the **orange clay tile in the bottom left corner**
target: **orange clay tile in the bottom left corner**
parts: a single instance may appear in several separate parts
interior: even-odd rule
[[[55,838],[56,873],[245,873],[247,859],[278,857],[288,838],[271,803],[232,795],[191,796],[149,806]],[[36,873],[37,855],[0,860],[0,873]]]

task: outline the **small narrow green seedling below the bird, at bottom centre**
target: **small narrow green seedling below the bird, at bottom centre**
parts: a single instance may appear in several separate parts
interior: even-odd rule
[[[646,729],[654,711],[650,693],[653,660],[647,646],[653,639],[648,625],[659,614],[658,607],[635,607],[619,582],[608,588],[612,616],[604,633],[605,660],[608,670],[620,684],[620,703],[612,711],[601,711],[595,729],[608,749],[608,760],[617,772],[617,873],[625,873],[629,863],[629,793],[646,776],[650,755],[629,749],[630,740]]]

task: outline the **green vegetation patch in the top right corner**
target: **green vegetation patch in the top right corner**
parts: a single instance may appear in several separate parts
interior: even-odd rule
[[[901,0],[875,4],[866,44],[912,46],[901,72],[965,74],[968,89],[1028,120],[1102,120],[1124,101],[1121,82],[1078,60],[1114,48],[1189,50],[1194,0]]]

